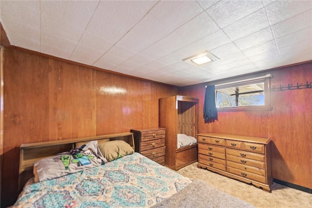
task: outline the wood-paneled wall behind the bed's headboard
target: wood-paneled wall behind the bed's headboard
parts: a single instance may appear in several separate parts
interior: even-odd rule
[[[179,88],[4,48],[1,207],[18,196],[22,143],[158,127],[158,99]]]

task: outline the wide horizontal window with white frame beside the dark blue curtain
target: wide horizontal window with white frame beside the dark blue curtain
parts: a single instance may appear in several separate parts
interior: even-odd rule
[[[272,110],[270,77],[271,75],[266,75],[215,85],[217,111]]]

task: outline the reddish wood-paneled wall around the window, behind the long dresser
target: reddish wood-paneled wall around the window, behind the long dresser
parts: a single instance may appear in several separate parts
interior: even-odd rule
[[[272,74],[271,86],[311,83],[312,62],[266,73]],[[198,132],[271,138],[273,178],[312,189],[312,89],[271,91],[272,111],[218,112],[217,121],[205,123],[203,103],[209,84],[181,89],[181,95],[199,98]]]

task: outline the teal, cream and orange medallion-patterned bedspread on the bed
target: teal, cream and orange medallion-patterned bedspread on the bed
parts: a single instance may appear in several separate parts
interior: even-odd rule
[[[57,179],[27,183],[13,207],[151,207],[192,180],[135,152]]]

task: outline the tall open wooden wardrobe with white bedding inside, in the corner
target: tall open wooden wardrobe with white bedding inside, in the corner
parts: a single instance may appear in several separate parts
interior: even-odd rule
[[[176,95],[159,98],[159,127],[166,128],[165,166],[179,170],[198,161],[197,144],[177,149],[177,134],[197,139],[198,98]]]

